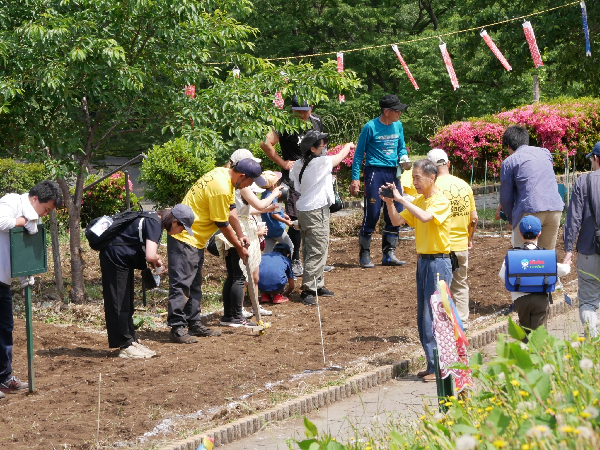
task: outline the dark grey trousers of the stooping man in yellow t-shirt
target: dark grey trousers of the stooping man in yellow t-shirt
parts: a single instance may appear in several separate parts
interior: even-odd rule
[[[169,312],[167,325],[189,326],[200,320],[204,249],[167,235]]]

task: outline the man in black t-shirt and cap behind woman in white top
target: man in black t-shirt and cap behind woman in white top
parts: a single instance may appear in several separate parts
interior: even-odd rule
[[[321,118],[316,114],[313,114],[314,106],[309,105],[307,102],[298,104],[298,96],[294,95],[292,98],[292,111],[298,119],[302,121],[310,121],[317,131],[323,132],[323,122]],[[280,133],[279,131],[271,131],[267,134],[265,142],[260,143],[260,148],[269,157],[271,161],[281,167],[281,182],[292,187],[290,190],[289,199],[286,202],[286,212],[290,216],[290,220],[298,220],[298,213],[296,212],[296,201],[300,197],[300,193],[293,190],[293,182],[290,181],[290,170],[294,166],[295,161],[302,158],[300,152],[300,143],[304,138],[306,131],[311,128],[307,128],[305,131],[299,133]],[[275,144],[279,143],[281,147],[281,156],[277,154],[275,150]],[[302,275],[304,268],[300,262],[300,231],[293,227],[287,230],[287,234],[292,239],[294,244],[294,253],[292,254],[292,269],[295,277]],[[326,266],[326,269],[328,267]]]

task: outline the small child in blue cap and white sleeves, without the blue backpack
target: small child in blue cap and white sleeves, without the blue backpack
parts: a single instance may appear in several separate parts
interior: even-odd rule
[[[538,248],[538,239],[542,234],[542,223],[535,215],[523,217],[519,223],[518,233],[521,234],[524,244],[523,250],[536,250]],[[521,248],[515,247],[515,248]],[[542,248],[539,248],[542,250]],[[568,264],[556,263],[556,273],[559,277],[564,277],[571,272],[571,262]],[[502,267],[498,276],[502,282],[506,279],[506,263],[502,262]],[[541,325],[548,325],[550,316],[550,298],[545,292],[511,292],[512,302],[519,315],[519,325],[527,329],[534,330]],[[527,338],[524,339],[527,342]]]

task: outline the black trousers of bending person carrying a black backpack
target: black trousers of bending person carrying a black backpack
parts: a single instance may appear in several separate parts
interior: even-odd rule
[[[121,267],[100,252],[104,317],[109,347],[128,347],[136,341],[133,326],[133,269]]]

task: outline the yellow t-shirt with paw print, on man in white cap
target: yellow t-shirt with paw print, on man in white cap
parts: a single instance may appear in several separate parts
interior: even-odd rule
[[[475,211],[475,199],[469,183],[454,175],[442,175],[436,179],[437,189],[450,200],[452,225],[450,248],[464,251],[469,248],[470,213]]]

